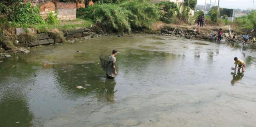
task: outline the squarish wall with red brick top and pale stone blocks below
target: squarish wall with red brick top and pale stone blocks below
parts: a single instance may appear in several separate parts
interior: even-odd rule
[[[76,3],[57,2],[58,19],[61,21],[76,20]]]

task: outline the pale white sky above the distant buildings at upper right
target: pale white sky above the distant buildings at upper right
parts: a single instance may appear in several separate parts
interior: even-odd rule
[[[242,10],[246,10],[248,8],[252,9],[253,0],[220,0],[221,8],[232,8],[237,9],[240,8]],[[212,0],[214,2],[214,0]],[[206,0],[206,3],[210,3],[210,0]],[[205,0],[197,0],[198,5],[205,5]],[[218,0],[216,0],[216,6],[218,6]],[[254,0],[254,9],[256,9],[256,0]]]

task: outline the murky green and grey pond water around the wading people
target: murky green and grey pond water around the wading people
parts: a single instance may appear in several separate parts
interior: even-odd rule
[[[112,49],[121,53],[109,80],[98,56]],[[235,56],[243,74],[231,70]],[[0,127],[254,127],[255,57],[239,45],[161,36],[32,49],[0,60]]]

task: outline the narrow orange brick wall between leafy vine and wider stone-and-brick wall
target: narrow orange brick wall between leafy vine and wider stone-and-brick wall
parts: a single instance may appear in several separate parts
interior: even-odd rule
[[[40,15],[45,20],[49,16],[50,12],[55,15],[55,9],[55,4],[53,2],[47,2],[40,6]]]

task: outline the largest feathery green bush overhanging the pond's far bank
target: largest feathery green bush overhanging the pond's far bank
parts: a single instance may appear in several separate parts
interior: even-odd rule
[[[161,14],[159,8],[148,0],[129,0],[120,4],[96,3],[77,11],[78,18],[90,19],[100,27],[118,32],[150,29],[152,22],[159,20]]]

